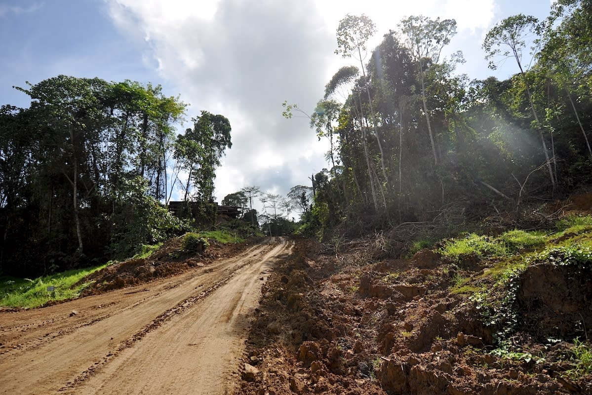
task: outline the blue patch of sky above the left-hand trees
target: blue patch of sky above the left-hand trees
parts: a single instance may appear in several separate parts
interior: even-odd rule
[[[65,74],[108,81],[155,81],[143,46],[113,24],[106,5],[92,0],[0,0],[0,103],[28,107],[12,89]]]

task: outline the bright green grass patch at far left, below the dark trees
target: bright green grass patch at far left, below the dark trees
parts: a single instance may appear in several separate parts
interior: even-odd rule
[[[78,284],[78,281],[92,272],[98,271],[112,262],[91,268],[72,269],[61,273],[28,278],[0,277],[0,306],[5,307],[40,307],[50,300],[77,298],[90,282]],[[53,291],[48,287],[54,287]]]

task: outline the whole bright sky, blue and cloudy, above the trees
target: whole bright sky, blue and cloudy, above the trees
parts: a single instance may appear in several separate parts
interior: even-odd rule
[[[549,0],[0,0],[0,105],[28,107],[12,86],[60,74],[160,84],[190,105],[179,133],[201,110],[230,120],[218,201],[246,185],[286,195],[328,167],[329,144],[307,118],[282,117],[282,102],[311,113],[331,76],[356,65],[334,53],[346,14],[377,25],[369,48],[410,15],[454,18],[458,34],[443,55],[462,50],[466,62],[456,72],[505,79],[516,69],[487,68],[485,34],[510,15],[543,19],[550,7]]]

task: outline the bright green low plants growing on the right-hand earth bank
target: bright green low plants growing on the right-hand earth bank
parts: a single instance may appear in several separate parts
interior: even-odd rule
[[[580,283],[590,277],[592,270],[592,216],[566,216],[556,222],[549,232],[511,230],[498,236],[471,233],[464,237],[443,240],[437,252],[451,259],[455,266],[467,256],[477,257],[482,270],[456,274],[451,282],[451,293],[464,294],[474,304],[484,327],[493,335],[494,348],[484,351],[509,364],[552,364],[546,361],[550,346],[567,341],[570,351],[564,354],[565,368],[561,375],[580,380],[592,372],[592,354],[589,339],[548,338],[542,349],[530,349],[516,341],[517,332],[526,325],[517,303],[524,286],[523,275],[529,268],[540,266],[549,272],[552,268],[566,268],[568,278]],[[583,279],[583,280],[582,280]],[[567,295],[565,296],[568,297]],[[549,309],[550,307],[545,307]],[[573,331],[584,332],[582,322],[574,323]],[[582,326],[582,327],[578,327]],[[559,363],[562,363],[559,361]],[[503,366],[503,362],[500,362]]]

